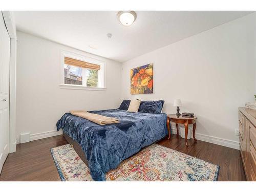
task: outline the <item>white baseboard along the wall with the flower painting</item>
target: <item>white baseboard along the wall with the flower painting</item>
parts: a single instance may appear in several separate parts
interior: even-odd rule
[[[177,130],[172,128],[172,134],[177,134]],[[196,139],[200,141],[205,141],[208,143],[214,143],[217,145],[222,145],[230,148],[235,148],[236,150],[239,150],[239,142],[238,141],[232,141],[229,139],[224,139],[220,137],[214,137],[214,136],[209,136],[209,135],[204,135],[201,133],[196,133],[195,134]]]

